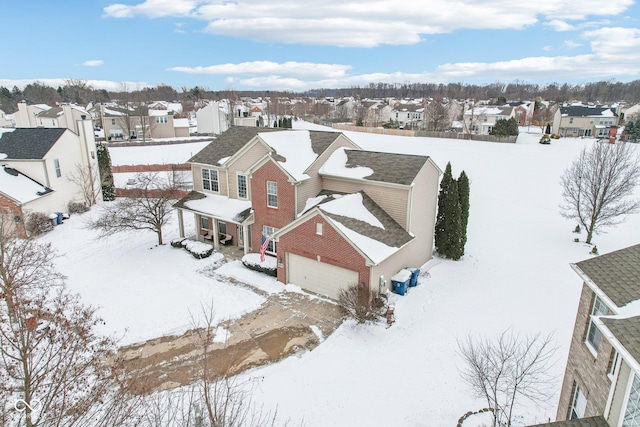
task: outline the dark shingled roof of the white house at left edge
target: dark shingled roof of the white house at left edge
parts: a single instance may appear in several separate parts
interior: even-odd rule
[[[42,159],[66,128],[17,128],[0,134],[0,153],[5,159]]]

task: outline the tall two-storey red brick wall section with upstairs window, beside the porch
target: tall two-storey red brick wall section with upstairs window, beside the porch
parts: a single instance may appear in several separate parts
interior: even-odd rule
[[[251,247],[260,247],[263,226],[280,229],[295,219],[295,188],[288,178],[273,161],[266,162],[252,174],[251,205],[255,211],[255,223],[251,227]],[[277,208],[267,206],[267,181],[278,184]]]

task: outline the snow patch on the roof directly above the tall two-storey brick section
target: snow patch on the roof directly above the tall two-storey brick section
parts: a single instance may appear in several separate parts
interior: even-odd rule
[[[311,135],[308,130],[260,132],[258,136],[278,155],[285,160],[276,160],[295,180],[302,181],[309,178],[305,174],[309,166],[318,158],[311,146]]]

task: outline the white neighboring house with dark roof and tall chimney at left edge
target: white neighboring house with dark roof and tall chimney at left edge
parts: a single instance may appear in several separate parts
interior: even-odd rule
[[[85,203],[71,175],[82,168],[98,174],[91,120],[79,124],[80,134],[66,128],[17,128],[0,133],[0,200],[16,221],[28,212],[67,212],[69,202]],[[5,176],[6,175],[6,176]],[[100,180],[92,183],[102,199]]]

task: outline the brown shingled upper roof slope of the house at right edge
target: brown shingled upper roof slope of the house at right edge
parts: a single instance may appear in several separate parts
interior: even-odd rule
[[[640,299],[640,244],[574,265],[616,306]]]

